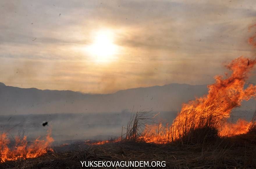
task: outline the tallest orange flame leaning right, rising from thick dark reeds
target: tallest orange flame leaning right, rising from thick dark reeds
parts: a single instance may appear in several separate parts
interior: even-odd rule
[[[250,84],[244,89],[246,80],[255,64],[255,59],[243,56],[233,60],[226,66],[232,71],[229,77],[215,76],[216,82],[208,85],[209,91],[206,96],[183,104],[172,124],[173,137],[180,138],[182,135],[188,134],[191,129],[202,127],[216,128],[223,133],[221,130],[225,130],[225,127],[222,126],[229,127],[226,120],[230,117],[231,110],[241,106],[243,100],[249,100],[256,95],[255,85]],[[239,127],[239,125],[230,125]],[[237,132],[236,129],[234,131]],[[243,132],[245,131],[239,133]]]

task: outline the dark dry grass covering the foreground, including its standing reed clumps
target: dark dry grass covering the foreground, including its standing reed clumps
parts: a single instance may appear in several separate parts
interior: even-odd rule
[[[145,127],[153,122],[153,117],[151,112],[136,113],[121,142],[90,146],[83,142],[68,145],[70,149],[54,147],[54,152],[38,158],[1,163],[0,169],[73,169],[81,168],[80,161],[166,161],[165,168],[179,169],[256,168],[255,116],[246,134],[218,137],[214,126],[204,125],[191,128],[186,135],[167,144],[146,143],[148,140],[141,139],[151,138]],[[164,129],[159,126],[157,135],[165,135],[166,139],[170,131],[166,129],[168,126]]]

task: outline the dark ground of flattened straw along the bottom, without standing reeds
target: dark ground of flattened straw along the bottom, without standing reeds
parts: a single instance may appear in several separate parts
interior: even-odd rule
[[[86,145],[83,142],[53,147],[33,159],[0,164],[4,169],[73,169],[80,161],[166,161],[165,168],[256,168],[256,146],[244,136],[221,139],[200,145],[150,144],[135,142]],[[85,167],[83,167],[85,168]],[[127,167],[126,167],[127,168]]]

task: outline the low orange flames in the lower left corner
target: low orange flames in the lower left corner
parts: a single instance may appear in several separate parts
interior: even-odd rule
[[[38,137],[33,143],[29,144],[26,140],[26,136],[22,139],[15,137],[15,143],[12,146],[10,139],[7,138],[6,134],[2,135],[0,140],[0,162],[17,159],[27,159],[39,157],[48,151],[53,151],[51,148],[47,149],[50,144],[54,141],[51,137],[51,131],[47,131],[45,140],[40,140]]]

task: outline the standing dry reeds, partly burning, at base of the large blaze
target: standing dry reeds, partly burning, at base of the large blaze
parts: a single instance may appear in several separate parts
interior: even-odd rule
[[[209,113],[209,112],[208,112]],[[206,113],[205,113],[206,114]],[[197,145],[214,141],[218,138],[216,114],[201,116],[199,122],[195,122],[195,117],[185,117],[185,120],[179,120],[179,115],[175,118],[173,124],[155,124],[154,117],[156,114],[148,112],[137,112],[131,117],[127,124],[125,141],[129,142],[147,142],[147,143],[181,143]],[[184,118],[184,117],[182,117]],[[177,124],[175,121],[182,121]],[[219,120],[219,119],[217,119]],[[220,121],[220,120],[219,120]],[[150,125],[151,124],[151,125]],[[178,137],[177,137],[178,136]]]

